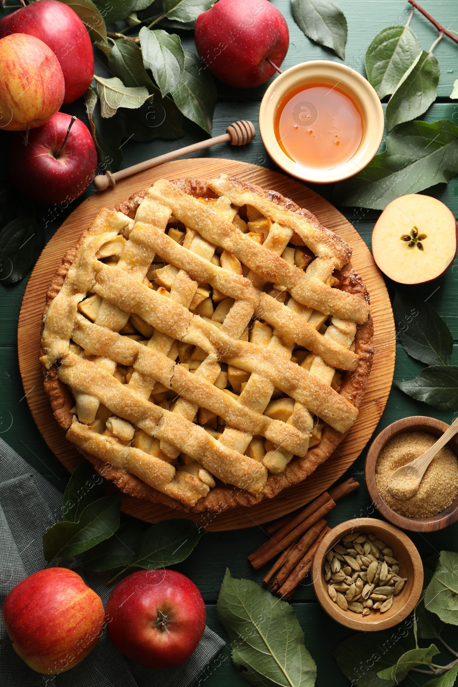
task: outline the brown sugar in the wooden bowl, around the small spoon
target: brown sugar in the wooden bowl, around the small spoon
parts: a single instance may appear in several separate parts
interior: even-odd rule
[[[387,489],[392,473],[430,449],[437,438],[424,432],[398,434],[383,447],[376,464],[376,484],[387,506],[406,517],[437,515],[450,506],[458,491],[458,460],[447,446],[433,458],[418,491],[406,500],[396,499]]]

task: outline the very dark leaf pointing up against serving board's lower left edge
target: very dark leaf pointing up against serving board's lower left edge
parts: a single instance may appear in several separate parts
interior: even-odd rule
[[[89,460],[84,460],[73,471],[62,499],[64,520],[78,522],[86,506],[102,498],[105,483]]]

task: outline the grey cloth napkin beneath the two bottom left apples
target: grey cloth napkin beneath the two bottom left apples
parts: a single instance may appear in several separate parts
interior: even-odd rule
[[[14,585],[45,565],[43,532],[61,519],[62,494],[0,439],[0,604]],[[105,606],[111,592],[107,574],[78,572]],[[8,638],[3,623],[0,638]],[[224,645],[205,627],[200,644],[185,663],[152,670],[118,653],[104,631],[89,656],[60,675],[35,673],[11,646],[0,646],[0,683],[1,687],[189,687]]]

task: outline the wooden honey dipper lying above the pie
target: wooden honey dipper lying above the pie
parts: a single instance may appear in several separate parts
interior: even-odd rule
[[[244,146],[252,141],[255,135],[255,128],[251,122],[245,122],[244,120],[242,122],[234,122],[231,126],[227,127],[226,133],[223,133],[221,136],[215,136],[206,141],[199,141],[192,144],[192,146],[179,148],[179,150],[172,150],[171,153],[165,153],[165,155],[152,157],[150,160],[139,162],[139,164],[132,167],[126,167],[125,170],[119,170],[119,172],[107,171],[106,174],[98,174],[93,179],[93,185],[98,191],[104,191],[108,186],[115,186],[119,179],[130,177],[131,174],[137,174],[137,172],[143,172],[143,170],[160,165],[162,162],[168,162],[176,157],[183,157],[183,155],[188,153],[196,153],[197,150],[211,148],[211,146],[216,146],[218,143],[229,142],[231,146]]]

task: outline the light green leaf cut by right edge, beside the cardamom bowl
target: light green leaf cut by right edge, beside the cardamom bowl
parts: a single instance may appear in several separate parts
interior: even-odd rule
[[[457,571],[458,553],[441,551],[433,578],[424,594],[425,608],[450,625],[458,625]]]

